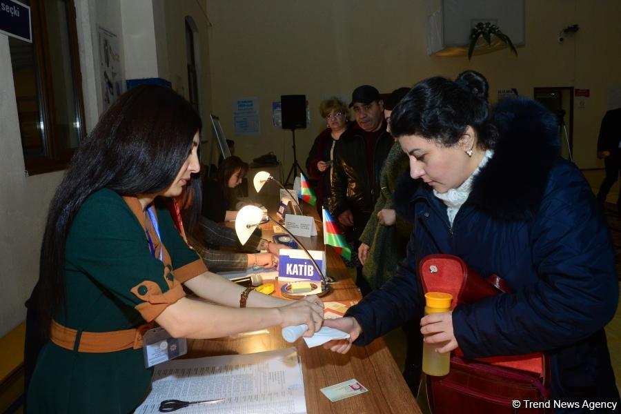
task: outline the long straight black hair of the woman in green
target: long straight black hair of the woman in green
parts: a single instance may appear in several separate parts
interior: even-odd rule
[[[65,304],[65,242],[85,199],[101,188],[119,195],[155,194],[170,186],[201,130],[201,119],[176,92],[143,85],[125,92],[76,150],[50,204],[41,246],[42,335]]]

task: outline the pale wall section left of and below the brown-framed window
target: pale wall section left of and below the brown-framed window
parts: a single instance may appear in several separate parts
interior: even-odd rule
[[[26,177],[8,37],[0,34],[0,336],[26,315],[48,204],[62,172]]]

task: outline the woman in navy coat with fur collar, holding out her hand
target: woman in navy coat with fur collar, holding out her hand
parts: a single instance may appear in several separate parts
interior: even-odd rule
[[[408,256],[397,277],[324,322],[351,333],[331,349],[422,317],[418,262],[457,255],[513,294],[422,317],[426,342],[469,358],[544,351],[553,400],[618,402],[604,333],[618,304],[613,245],[589,185],[560,157],[554,115],[522,98],[491,112],[475,83],[435,77],[395,107],[391,130],[410,159],[411,178],[395,191],[414,224]],[[424,185],[408,190],[413,179]]]

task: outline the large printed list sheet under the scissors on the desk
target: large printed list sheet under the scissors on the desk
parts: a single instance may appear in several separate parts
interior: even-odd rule
[[[244,355],[175,359],[155,366],[151,393],[135,413],[159,413],[164,400],[224,402],[179,414],[305,414],[304,379],[295,348]]]

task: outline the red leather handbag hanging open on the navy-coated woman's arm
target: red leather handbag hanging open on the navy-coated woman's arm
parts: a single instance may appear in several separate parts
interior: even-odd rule
[[[419,264],[424,293],[453,295],[451,309],[499,293],[511,293],[495,275],[484,279],[459,257],[429,255]],[[542,353],[466,359],[460,348],[453,351],[451,371],[443,377],[427,375],[427,398],[433,414],[548,413],[549,363]],[[524,408],[524,400],[541,403]],[[520,407],[514,405],[520,402]],[[538,405],[538,404],[535,404]]]

